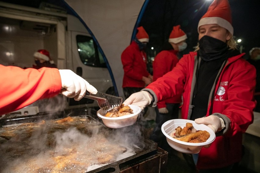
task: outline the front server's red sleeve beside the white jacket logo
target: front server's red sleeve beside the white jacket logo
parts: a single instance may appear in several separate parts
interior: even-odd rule
[[[228,135],[247,130],[253,123],[253,110],[255,108],[254,91],[256,85],[256,70],[252,65],[246,63],[232,68],[229,81],[228,100],[223,102],[224,110],[222,114],[231,120],[231,130]],[[234,104],[235,103],[235,104]]]

